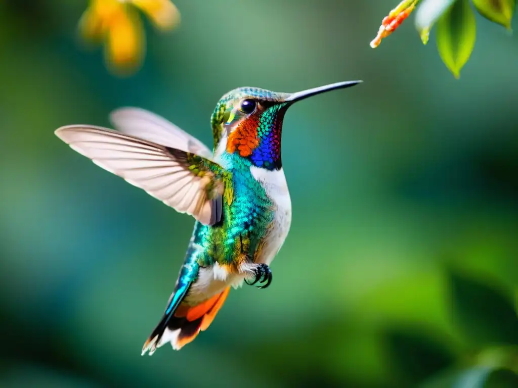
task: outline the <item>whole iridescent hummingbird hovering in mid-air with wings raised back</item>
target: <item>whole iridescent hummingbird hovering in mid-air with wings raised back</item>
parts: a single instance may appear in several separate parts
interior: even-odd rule
[[[262,289],[270,285],[270,264],[292,218],[281,160],[284,114],[297,101],[360,82],[297,93],[236,88],[212,113],[212,151],[140,108],[111,112],[115,130],[93,125],[55,130],[99,167],[195,219],[175,288],[142,355],[168,342],[180,350],[193,341],[212,323],[231,287],[243,282]]]

